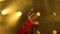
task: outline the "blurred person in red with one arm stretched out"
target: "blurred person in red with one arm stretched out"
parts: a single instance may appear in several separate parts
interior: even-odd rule
[[[28,20],[25,22],[25,24],[20,28],[20,30],[18,31],[18,34],[32,34],[32,27],[34,24],[39,24],[38,22],[35,22],[34,20],[36,20],[38,17],[40,16],[40,13],[37,12],[32,13],[29,12],[27,18]]]

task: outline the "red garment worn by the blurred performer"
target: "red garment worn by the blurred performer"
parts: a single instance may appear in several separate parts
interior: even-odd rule
[[[18,31],[18,34],[32,34],[31,27],[34,25],[34,22],[32,19],[28,19],[28,21],[25,22],[25,27],[21,27],[21,29]]]

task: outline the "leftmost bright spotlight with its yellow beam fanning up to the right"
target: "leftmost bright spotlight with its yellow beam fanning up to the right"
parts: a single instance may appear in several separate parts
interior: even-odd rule
[[[14,13],[15,11],[17,11],[17,9],[18,9],[18,7],[13,2],[13,3],[9,4],[4,10],[2,10],[1,14],[6,15],[6,14]]]

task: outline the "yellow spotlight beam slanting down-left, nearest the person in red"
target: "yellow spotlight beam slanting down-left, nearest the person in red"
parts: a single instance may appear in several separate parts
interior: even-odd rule
[[[14,26],[17,24],[17,21],[20,19],[22,12],[15,12],[7,18],[8,25]]]

